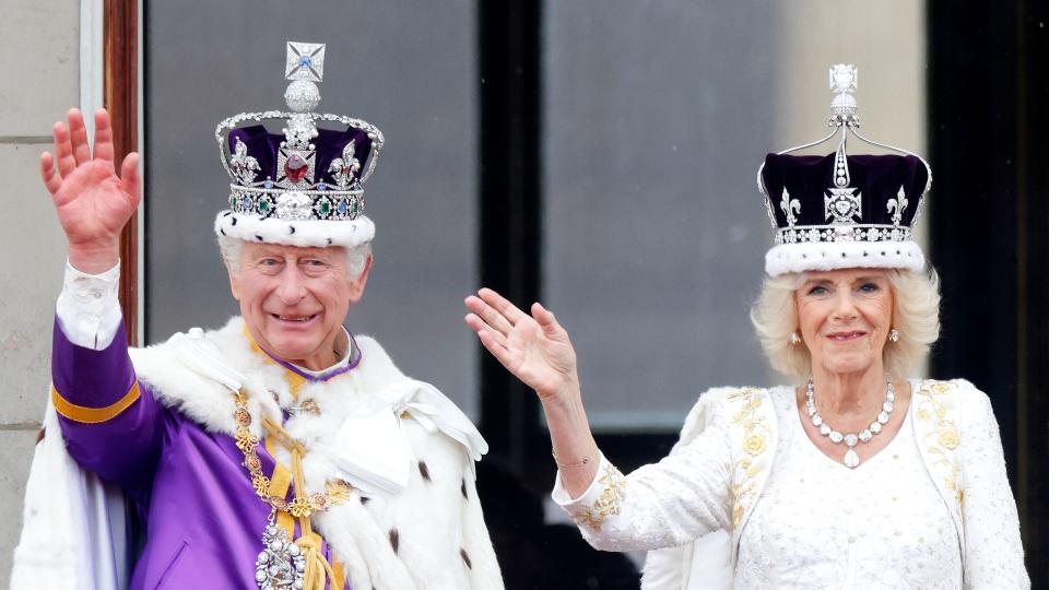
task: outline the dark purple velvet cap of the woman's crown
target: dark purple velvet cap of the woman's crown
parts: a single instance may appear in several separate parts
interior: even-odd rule
[[[850,155],[850,182],[860,196],[858,224],[894,225],[891,200],[897,200],[904,189],[907,200],[899,225],[910,227],[919,211],[919,202],[929,180],[929,172],[921,160],[912,155]],[[797,199],[793,226],[816,226],[830,223],[824,199],[835,187],[835,154],[825,156],[780,155],[765,156],[762,179],[770,201],[777,227],[789,227],[788,208],[780,206],[783,189],[790,199]]]

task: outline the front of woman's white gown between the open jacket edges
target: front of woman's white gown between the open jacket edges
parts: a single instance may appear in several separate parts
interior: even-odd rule
[[[774,400],[780,451],[740,539],[735,586],[962,588],[954,521],[909,416],[888,446],[853,470],[812,444],[792,399]]]

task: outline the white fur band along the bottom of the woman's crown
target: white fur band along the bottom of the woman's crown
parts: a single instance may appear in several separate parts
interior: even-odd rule
[[[809,241],[780,244],[765,255],[769,276],[788,272],[837,269],[907,269],[920,271],[926,256],[914,241]]]

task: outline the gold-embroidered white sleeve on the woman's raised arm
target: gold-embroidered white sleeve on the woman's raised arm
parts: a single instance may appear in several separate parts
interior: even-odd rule
[[[558,473],[552,497],[587,542],[604,551],[656,550],[717,529],[731,530],[732,460],[726,423],[724,416],[712,416],[694,440],[628,476],[602,455],[594,481],[575,499]]]

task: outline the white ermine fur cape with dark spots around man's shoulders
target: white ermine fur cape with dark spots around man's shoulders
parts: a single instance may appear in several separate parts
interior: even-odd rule
[[[221,351],[223,363],[244,376],[251,426],[255,434],[261,435],[259,416],[281,415],[273,394],[281,405],[293,405],[285,369],[251,350],[240,318],[205,332],[202,338],[212,350]],[[419,390],[419,381],[404,376],[378,342],[360,335],[355,340],[362,354],[355,369],[331,381],[304,385],[298,392],[299,399],[316,401],[321,413],[293,415],[284,423],[288,434],[309,449],[303,458],[308,489],[322,488],[338,473],[326,442],[334,439],[344,416],[363,404],[402,406],[414,400]],[[175,345],[132,349],[131,357],[139,379],[150,385],[161,403],[177,409],[210,432],[234,432],[229,390],[185,365]],[[451,409],[443,408],[440,413],[450,412]],[[460,418],[465,420],[453,415],[449,424]],[[366,495],[366,502],[360,489],[353,489],[347,503],[314,517],[318,532],[344,564],[353,588],[502,589],[499,566],[474,485],[469,441],[415,420],[405,420],[403,427],[414,457],[408,487],[391,496]],[[483,445],[483,439],[479,445]],[[275,455],[282,463],[290,464],[285,449],[279,447]],[[426,464],[428,480],[422,476],[421,463]],[[396,551],[392,530],[397,530]],[[460,551],[470,556],[471,567],[465,565]]]

